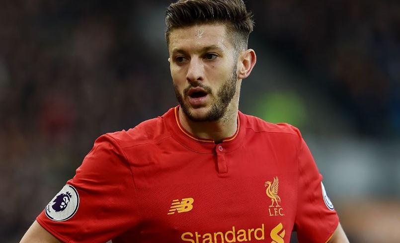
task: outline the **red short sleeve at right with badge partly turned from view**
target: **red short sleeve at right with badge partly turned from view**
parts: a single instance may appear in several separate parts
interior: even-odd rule
[[[326,196],[322,175],[303,139],[298,160],[297,238],[299,243],[325,243],[335,231],[339,218]]]

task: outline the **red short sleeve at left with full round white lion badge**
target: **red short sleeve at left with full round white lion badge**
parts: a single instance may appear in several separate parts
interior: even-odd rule
[[[68,243],[104,243],[138,224],[133,175],[111,136],[95,141],[74,178],[36,220]]]

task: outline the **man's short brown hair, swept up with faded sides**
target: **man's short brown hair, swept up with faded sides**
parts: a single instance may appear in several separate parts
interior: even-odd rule
[[[243,0],[178,0],[171,3],[165,13],[165,39],[175,28],[196,24],[221,23],[234,35],[236,49],[247,48],[248,35],[253,31],[254,21]]]

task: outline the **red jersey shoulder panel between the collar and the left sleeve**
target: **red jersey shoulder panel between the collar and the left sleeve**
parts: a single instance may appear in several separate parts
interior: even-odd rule
[[[154,144],[170,137],[165,127],[163,117],[153,118],[140,123],[139,125],[127,131],[122,130],[113,133],[107,133],[103,136],[108,137],[118,144],[121,149],[134,147],[137,145]]]

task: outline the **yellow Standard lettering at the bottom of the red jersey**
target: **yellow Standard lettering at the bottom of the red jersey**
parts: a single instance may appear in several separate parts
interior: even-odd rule
[[[261,241],[265,239],[264,224],[261,224],[260,228],[247,229],[247,230],[236,230],[235,226],[232,230],[227,232],[214,232],[204,233],[199,232],[185,232],[181,235],[181,239],[184,242],[190,243],[233,243],[233,242],[249,242],[249,241]]]

